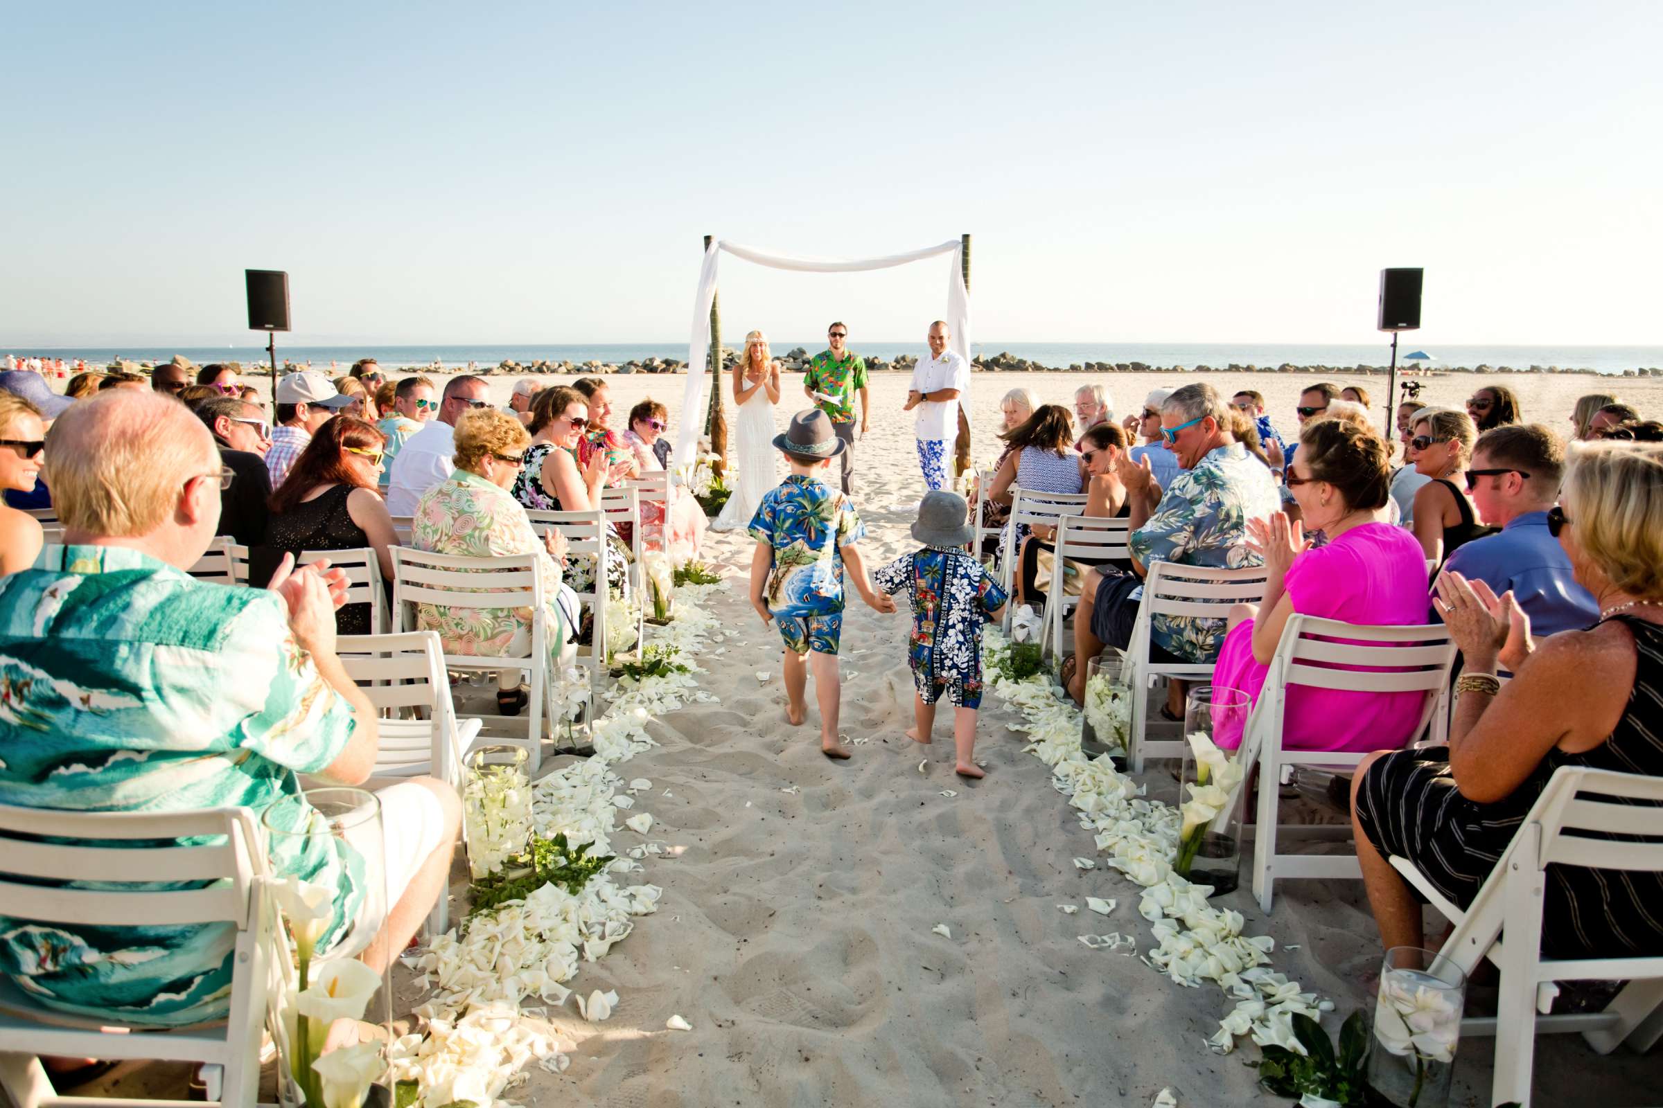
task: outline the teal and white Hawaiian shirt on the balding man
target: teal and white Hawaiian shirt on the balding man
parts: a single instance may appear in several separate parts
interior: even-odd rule
[[[298,827],[313,814],[298,774],[329,766],[353,728],[276,593],[123,547],[47,547],[0,578],[0,804],[273,809]],[[343,839],[286,839],[273,869],[338,890],[328,949],[358,914],[364,862]],[[231,924],[65,927],[28,919],[27,899],[0,905],[0,973],[47,1007],[131,1023],[225,1018],[233,940]]]

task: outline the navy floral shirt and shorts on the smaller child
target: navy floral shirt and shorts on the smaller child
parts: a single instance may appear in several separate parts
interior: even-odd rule
[[[906,661],[918,699],[945,693],[956,708],[981,706],[981,625],[1006,595],[988,568],[958,547],[925,547],[871,575],[880,593],[903,588],[913,606]]]

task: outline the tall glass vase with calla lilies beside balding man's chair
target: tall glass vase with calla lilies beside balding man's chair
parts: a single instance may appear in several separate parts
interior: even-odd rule
[[[374,1071],[386,1071],[392,1032],[387,967],[396,952],[374,952],[382,962],[379,973],[361,960],[378,937],[386,942],[382,930],[392,902],[381,797],[368,789],[311,789],[269,806],[259,822],[266,856],[279,877],[308,874],[306,882],[329,890],[321,904],[348,905],[339,922],[331,909],[331,919],[316,924],[319,934],[308,927],[303,904],[278,897],[296,960],[278,1042],[284,1078],[278,1081],[279,1103],[321,1106],[323,1083],[311,1065],[326,1050],[369,1048],[379,1057]],[[339,892],[343,885],[351,889],[346,897]]]

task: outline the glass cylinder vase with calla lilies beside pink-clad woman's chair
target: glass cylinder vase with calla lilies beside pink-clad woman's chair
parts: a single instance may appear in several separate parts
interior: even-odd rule
[[[1241,736],[1252,701],[1241,689],[1202,684],[1184,703],[1184,762],[1179,771],[1179,831],[1172,872],[1214,894],[1241,884],[1242,782],[1251,766],[1221,749],[1216,736]]]

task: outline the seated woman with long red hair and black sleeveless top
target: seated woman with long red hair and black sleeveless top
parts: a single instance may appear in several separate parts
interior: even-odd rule
[[[351,380],[351,379],[348,379]],[[381,475],[381,432],[361,419],[338,415],[318,429],[294,460],[283,487],[271,493],[271,517],[263,545],[278,552],[374,548],[381,580],[392,581],[391,547],[399,545],[387,505],[376,492]],[[251,561],[253,566],[253,561]],[[254,571],[254,580],[261,573]],[[369,605],[344,605],[334,613],[341,635],[373,635]]]

